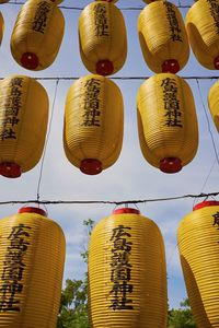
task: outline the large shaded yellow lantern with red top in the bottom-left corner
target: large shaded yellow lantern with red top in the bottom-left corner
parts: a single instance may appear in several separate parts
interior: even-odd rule
[[[65,262],[60,226],[38,208],[0,220],[0,327],[56,328]]]

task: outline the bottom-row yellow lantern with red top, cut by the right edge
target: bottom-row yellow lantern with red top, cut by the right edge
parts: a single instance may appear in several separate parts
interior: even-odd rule
[[[219,327],[219,201],[204,201],[181,222],[177,242],[198,328]]]

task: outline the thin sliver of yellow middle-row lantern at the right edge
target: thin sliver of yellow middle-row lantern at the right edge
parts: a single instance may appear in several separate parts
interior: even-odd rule
[[[208,93],[208,107],[219,132],[219,81],[211,86]]]

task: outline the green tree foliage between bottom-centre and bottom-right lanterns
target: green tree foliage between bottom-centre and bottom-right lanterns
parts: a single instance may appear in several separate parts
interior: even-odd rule
[[[169,311],[169,328],[196,328],[188,298],[181,302],[181,308]]]

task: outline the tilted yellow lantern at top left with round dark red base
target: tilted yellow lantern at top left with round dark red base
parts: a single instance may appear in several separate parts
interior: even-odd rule
[[[11,36],[11,52],[30,70],[49,67],[61,45],[65,19],[50,0],[28,0],[22,7]]]

